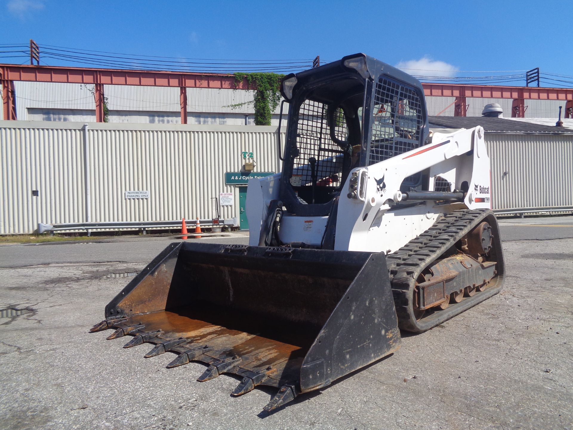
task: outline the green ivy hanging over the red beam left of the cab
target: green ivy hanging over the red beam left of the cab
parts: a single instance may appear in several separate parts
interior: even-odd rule
[[[270,126],[273,111],[281,100],[280,85],[284,76],[277,73],[235,73],[235,82],[237,84],[246,79],[249,89],[253,88],[253,84],[256,85],[253,104],[254,123],[257,126]],[[241,104],[234,106],[238,107],[239,105]]]

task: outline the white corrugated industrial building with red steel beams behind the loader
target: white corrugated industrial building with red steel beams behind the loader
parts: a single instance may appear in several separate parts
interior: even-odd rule
[[[8,119],[0,234],[209,220],[215,201],[222,219],[248,229],[246,183],[281,170],[278,108],[272,126],[252,125],[253,90],[232,75],[13,65],[0,73]],[[484,127],[497,213],[573,210],[573,89],[423,85],[431,127]],[[488,103],[521,118],[481,118]],[[559,107],[565,127],[545,125]]]

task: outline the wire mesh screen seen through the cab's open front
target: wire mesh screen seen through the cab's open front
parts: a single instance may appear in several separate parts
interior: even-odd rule
[[[315,197],[324,195],[320,189],[337,189],[342,185],[344,151],[331,139],[328,126],[328,105],[314,100],[305,100],[299,108],[296,130],[297,157],[293,160],[291,185],[299,201],[310,203],[310,191],[315,182]],[[346,141],[348,127],[342,108],[333,114],[333,134]],[[320,201],[315,201],[320,203]]]

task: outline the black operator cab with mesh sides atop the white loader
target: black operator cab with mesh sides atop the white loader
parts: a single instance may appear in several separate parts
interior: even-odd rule
[[[419,81],[356,54],[286,76],[290,104],[281,201],[297,216],[328,216],[352,169],[421,146],[427,139]],[[423,186],[422,174],[405,190]]]

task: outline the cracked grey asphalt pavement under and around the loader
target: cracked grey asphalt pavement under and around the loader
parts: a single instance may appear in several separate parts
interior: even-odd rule
[[[0,428],[572,428],[573,239],[506,241],[500,294],[268,416],[273,390],[234,398],[236,378],[88,333],[168,243],[0,247],[0,308],[29,310],[0,319]]]

